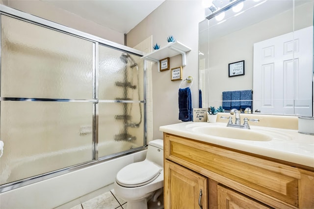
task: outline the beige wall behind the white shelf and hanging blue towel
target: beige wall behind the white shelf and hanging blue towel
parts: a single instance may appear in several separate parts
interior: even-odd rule
[[[198,107],[198,24],[205,19],[201,0],[166,0],[154,12],[135,26],[127,35],[129,47],[153,36],[153,44],[167,44],[167,37],[192,50],[187,52],[183,79],[193,77],[192,106]],[[181,55],[170,58],[170,68],[182,66]],[[152,68],[153,86],[153,139],[162,138],[159,126],[179,123],[178,89],[181,80],[171,81],[170,70],[158,72],[157,64]],[[181,87],[186,87],[184,82]]]

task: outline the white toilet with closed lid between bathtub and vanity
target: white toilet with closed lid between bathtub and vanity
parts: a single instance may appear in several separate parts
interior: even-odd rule
[[[127,209],[147,209],[148,200],[163,207],[163,202],[157,201],[163,195],[163,140],[149,142],[144,161],[131,163],[117,173],[114,191],[128,202]]]

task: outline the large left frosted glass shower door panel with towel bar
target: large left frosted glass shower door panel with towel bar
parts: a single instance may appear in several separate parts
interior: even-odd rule
[[[0,184],[94,159],[95,43],[1,15]]]

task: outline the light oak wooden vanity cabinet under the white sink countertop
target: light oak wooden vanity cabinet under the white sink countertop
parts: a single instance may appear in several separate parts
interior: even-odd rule
[[[311,169],[311,168],[310,168]],[[165,209],[314,209],[314,172],[164,133]]]

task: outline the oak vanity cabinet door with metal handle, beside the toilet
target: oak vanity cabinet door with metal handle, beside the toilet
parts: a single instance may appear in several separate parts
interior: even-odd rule
[[[165,160],[165,209],[208,209],[208,179]]]

